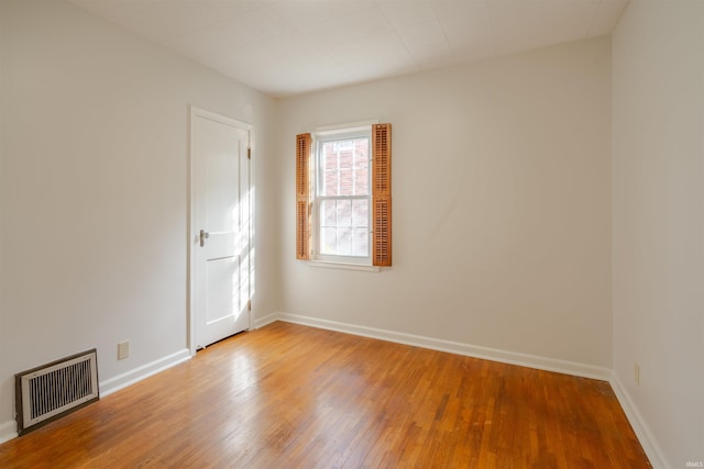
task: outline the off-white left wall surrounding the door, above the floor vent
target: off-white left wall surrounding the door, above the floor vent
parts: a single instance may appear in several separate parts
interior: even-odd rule
[[[15,372],[97,347],[107,381],[186,349],[189,104],[255,125],[256,208],[276,200],[273,100],[64,2],[0,9],[1,434]],[[264,313],[272,223],[257,219]]]

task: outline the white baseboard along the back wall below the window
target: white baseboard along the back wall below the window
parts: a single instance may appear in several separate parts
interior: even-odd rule
[[[266,320],[266,321],[264,321]],[[579,364],[574,361],[558,360],[554,358],[539,357],[536,355],[520,354],[516,351],[501,350],[497,348],[482,347],[459,342],[443,340],[432,337],[405,334],[394,331],[380,330],[374,327],[358,326],[354,324],[340,323],[337,321],[320,320],[316,317],[301,316],[288,313],[274,313],[262,317],[262,324],[268,324],[276,320],[301,324],[311,327],[338,331],[346,334],[360,335],[363,337],[378,338],[382,340],[395,342],[397,344],[413,345],[416,347],[429,348],[431,350],[448,351],[451,354],[464,355],[468,357],[483,358],[486,360],[501,361],[503,364],[518,365],[521,367],[537,368],[547,371],[556,371],[566,375],[574,375],[583,378],[593,378],[608,381],[612,370],[593,365]],[[261,326],[260,326],[261,327]]]

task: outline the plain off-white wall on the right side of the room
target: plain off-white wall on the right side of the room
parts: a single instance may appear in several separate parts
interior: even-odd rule
[[[680,468],[704,461],[704,2],[631,1],[613,42],[614,368]]]

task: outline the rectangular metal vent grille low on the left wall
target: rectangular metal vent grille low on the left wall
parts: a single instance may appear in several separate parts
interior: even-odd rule
[[[23,435],[100,399],[94,348],[14,376],[18,434]]]

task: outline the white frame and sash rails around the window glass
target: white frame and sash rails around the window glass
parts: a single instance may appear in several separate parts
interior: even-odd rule
[[[314,148],[314,177],[311,178],[312,183],[312,257],[310,259],[310,264],[319,267],[348,267],[353,269],[363,269],[363,270],[378,270],[377,267],[372,265],[372,125],[377,124],[377,121],[364,121],[364,122],[355,122],[350,124],[340,124],[332,125],[326,127],[318,127],[314,130],[310,134],[312,137],[312,148]],[[369,211],[367,211],[367,255],[366,257],[361,256],[340,256],[340,255],[323,255],[320,254],[320,202],[323,197],[319,193],[319,187],[321,183],[321,170],[320,170],[320,145],[324,142],[331,141],[340,141],[348,138],[360,138],[366,137],[370,141],[370,192],[367,196],[341,196],[344,199],[355,199],[362,198],[366,199],[369,202]],[[328,199],[328,198],[324,198]]]

